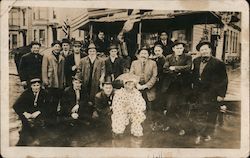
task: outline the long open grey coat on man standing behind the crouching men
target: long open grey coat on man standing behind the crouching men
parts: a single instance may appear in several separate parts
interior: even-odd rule
[[[92,78],[90,92],[86,92],[86,94],[90,93],[89,100],[94,101],[95,95],[99,91],[100,78],[105,73],[104,61],[99,57],[96,57],[93,66],[93,73],[90,74],[90,61],[89,57],[87,56],[81,59],[79,69],[81,72],[81,78],[84,90],[87,89],[87,85],[89,83],[89,77]]]

